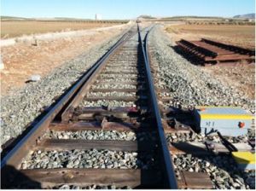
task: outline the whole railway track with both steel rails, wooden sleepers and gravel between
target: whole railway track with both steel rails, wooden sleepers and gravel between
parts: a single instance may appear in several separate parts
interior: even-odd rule
[[[6,154],[2,188],[177,188],[146,38],[127,32]]]

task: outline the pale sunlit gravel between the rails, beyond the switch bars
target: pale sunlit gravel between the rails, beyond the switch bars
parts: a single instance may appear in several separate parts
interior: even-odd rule
[[[130,40],[125,42],[123,50],[120,50],[116,55],[113,55],[111,60],[108,62],[108,65],[103,69],[102,74],[100,74],[100,79],[96,79],[96,84],[91,86],[91,90],[94,89],[137,89],[137,85],[133,84],[122,84],[123,82],[136,82],[137,80],[129,79],[132,77],[137,77],[134,74],[123,74],[123,72],[137,72],[137,35],[132,37]],[[131,49],[127,51],[127,49]],[[114,65],[119,65],[120,62],[124,67],[113,67]],[[133,64],[133,67],[127,67],[126,65]],[[125,67],[126,66],[126,67]],[[104,74],[104,72],[108,72]],[[113,74],[116,72],[116,74]],[[107,74],[107,75],[106,75]],[[124,78],[125,77],[125,78]],[[101,84],[97,84],[101,82]],[[114,82],[114,84],[111,84]],[[133,97],[137,98],[136,92],[89,92],[86,96],[84,96],[84,101],[80,103],[80,107],[91,107],[91,106],[109,106],[109,107],[131,107],[135,105],[135,102],[132,101],[108,101],[102,100],[99,101],[87,101],[88,97],[95,96],[118,96],[118,97]]]

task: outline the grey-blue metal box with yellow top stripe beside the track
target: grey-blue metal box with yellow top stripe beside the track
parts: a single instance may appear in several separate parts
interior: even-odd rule
[[[223,136],[242,136],[253,123],[253,115],[240,107],[196,107],[195,129],[201,133],[218,130]]]

